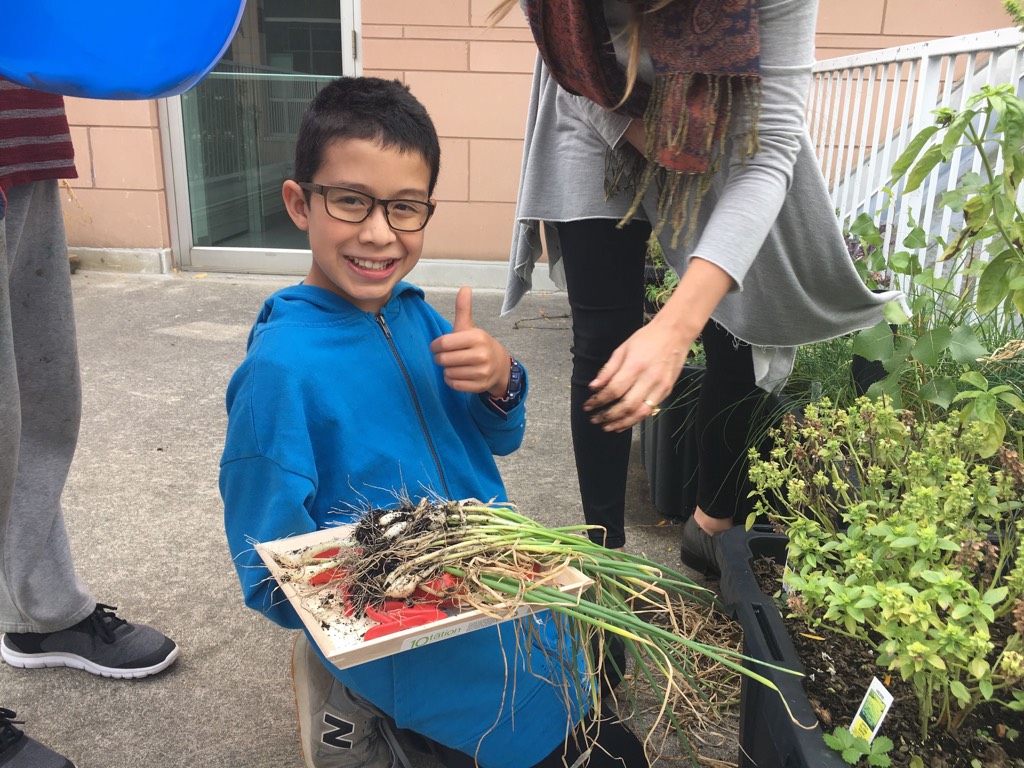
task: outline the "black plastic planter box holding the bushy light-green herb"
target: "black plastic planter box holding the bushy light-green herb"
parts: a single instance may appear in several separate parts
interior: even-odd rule
[[[759,526],[749,532],[737,526],[722,534],[719,589],[729,612],[742,625],[743,652],[752,658],[803,674],[804,668],[782,616],[772,599],[761,591],[751,569],[751,561],[758,557],[784,562],[786,541],[784,535]],[[825,745],[801,678],[760,665],[757,672],[778,687],[793,717],[785,711],[778,693],[744,677],[739,711],[740,768],[848,768],[840,756]]]

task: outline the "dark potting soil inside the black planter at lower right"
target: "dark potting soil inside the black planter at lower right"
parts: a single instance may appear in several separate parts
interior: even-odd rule
[[[780,592],[780,565],[771,558],[760,558],[752,566],[763,592]],[[914,755],[926,768],[1024,768],[1024,713],[983,703],[955,734],[930,728],[928,741],[923,743],[913,688],[898,674],[886,677],[867,643],[820,627],[809,630],[800,618],[787,618],[784,606],[780,612],[807,674],[804,689],[825,733],[849,727],[871,678],[878,677],[894,696],[880,731],[895,744],[889,753],[894,768],[908,767]]]

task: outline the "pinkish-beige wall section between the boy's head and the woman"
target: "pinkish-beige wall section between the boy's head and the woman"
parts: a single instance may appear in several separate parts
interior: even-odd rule
[[[424,256],[504,259],[511,240],[536,47],[492,0],[362,4],[362,69],[407,83],[441,138],[437,213]]]

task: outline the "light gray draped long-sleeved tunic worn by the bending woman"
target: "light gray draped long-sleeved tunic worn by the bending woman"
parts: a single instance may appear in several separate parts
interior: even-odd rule
[[[670,226],[658,240],[680,274],[696,255],[732,278],[734,289],[712,316],[755,347],[758,383],[774,389],[792,370],[797,345],[869,328],[882,319],[886,302],[901,297],[872,293],[857,274],[804,122],[817,0],[760,0],[758,6],[760,150],[745,162],[731,152],[723,161],[688,243],[672,248]],[[625,7],[605,0],[613,36]],[[613,39],[622,61],[625,36]],[[651,72],[645,56],[640,77],[649,80]],[[735,135],[748,120],[735,116]],[[604,194],[605,155],[622,145],[628,124],[629,118],[564,91],[538,57],[503,313],[530,289],[542,226],[552,280],[564,287],[557,230],[549,223],[618,219],[629,209],[628,193]],[[652,190],[638,218],[655,216],[654,198]]]

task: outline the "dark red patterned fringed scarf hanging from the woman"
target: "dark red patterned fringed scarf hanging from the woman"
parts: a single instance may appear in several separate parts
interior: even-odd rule
[[[606,193],[634,188],[625,224],[656,183],[654,232],[673,227],[672,245],[692,233],[700,203],[722,163],[736,104],[745,108],[741,157],[758,150],[761,103],[757,0],[624,0],[643,6],[643,42],[654,83],[637,81],[629,98],[601,0],[526,0],[541,56],[565,90],[632,118],[643,118],[645,158],[609,155]],[[738,118],[737,118],[738,119]]]

